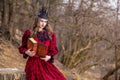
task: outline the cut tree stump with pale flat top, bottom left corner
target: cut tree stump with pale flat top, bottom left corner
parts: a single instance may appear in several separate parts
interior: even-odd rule
[[[2,68],[0,69],[0,80],[26,80],[23,69]]]

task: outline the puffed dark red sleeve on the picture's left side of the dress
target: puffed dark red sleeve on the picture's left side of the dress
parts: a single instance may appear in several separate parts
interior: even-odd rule
[[[25,54],[25,51],[27,50],[27,40],[28,40],[28,38],[30,37],[30,33],[31,33],[30,30],[26,30],[26,31],[24,32],[23,37],[22,37],[22,44],[21,44],[21,46],[19,47],[19,52],[20,52],[21,54],[23,54],[23,57],[24,57],[24,58],[27,58],[27,57],[28,57],[28,55]]]

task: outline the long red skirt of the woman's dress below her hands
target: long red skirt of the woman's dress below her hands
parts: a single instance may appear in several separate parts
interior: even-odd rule
[[[49,61],[45,62],[39,57],[32,57],[26,64],[27,80],[66,80],[57,67]]]

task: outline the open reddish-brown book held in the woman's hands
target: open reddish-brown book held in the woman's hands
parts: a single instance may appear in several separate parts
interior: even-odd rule
[[[34,38],[28,39],[27,48],[35,51],[40,57],[45,57],[46,55],[46,45],[37,43]]]

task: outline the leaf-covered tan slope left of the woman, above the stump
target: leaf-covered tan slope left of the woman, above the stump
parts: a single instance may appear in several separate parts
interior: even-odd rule
[[[18,49],[9,41],[0,38],[0,68],[22,68],[25,59],[21,59]]]

